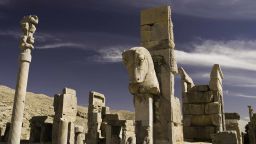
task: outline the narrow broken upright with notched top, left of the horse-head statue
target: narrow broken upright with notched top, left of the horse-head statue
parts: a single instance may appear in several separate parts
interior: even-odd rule
[[[105,108],[105,96],[101,93],[91,91],[89,95],[86,143],[98,144],[99,140],[103,138],[100,127],[103,113],[108,113],[107,110],[108,108]]]

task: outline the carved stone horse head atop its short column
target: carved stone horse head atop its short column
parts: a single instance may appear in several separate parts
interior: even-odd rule
[[[134,47],[123,52],[122,57],[128,70],[130,92],[159,94],[159,83],[149,51],[144,47]]]

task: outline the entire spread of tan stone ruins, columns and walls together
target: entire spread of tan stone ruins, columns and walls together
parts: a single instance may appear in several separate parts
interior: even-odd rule
[[[181,67],[177,68],[171,8],[141,12],[141,46],[123,52],[129,91],[134,96],[135,119],[111,113],[105,96],[91,91],[88,107],[88,131],[76,123],[76,91],[64,88],[54,96],[53,116],[35,116],[30,120],[29,140],[21,140],[22,118],[28,68],[31,62],[36,16],[22,21],[20,71],[13,106],[12,122],[0,128],[0,141],[8,144],[256,144],[256,116],[249,107],[250,122],[246,134],[239,129],[240,116],[224,113],[221,68],[215,64],[207,85],[195,85]],[[179,74],[182,105],[174,96],[174,79]],[[182,108],[181,108],[182,106]],[[183,116],[183,117],[182,117]]]

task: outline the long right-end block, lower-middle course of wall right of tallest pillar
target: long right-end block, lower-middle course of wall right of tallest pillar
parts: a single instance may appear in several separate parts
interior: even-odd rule
[[[191,117],[192,126],[219,126],[221,124],[221,115],[193,115]]]

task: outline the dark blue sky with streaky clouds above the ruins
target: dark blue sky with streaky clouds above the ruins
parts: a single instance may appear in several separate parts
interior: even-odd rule
[[[108,106],[133,110],[120,54],[139,46],[140,11],[162,5],[172,6],[178,65],[196,84],[208,84],[219,63],[225,111],[248,117],[247,105],[256,103],[255,0],[1,0],[0,84],[15,87],[19,21],[36,14],[29,91],[53,96],[70,87],[87,105],[94,90]],[[179,76],[175,87],[180,97]]]

